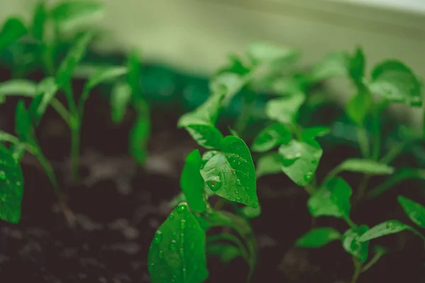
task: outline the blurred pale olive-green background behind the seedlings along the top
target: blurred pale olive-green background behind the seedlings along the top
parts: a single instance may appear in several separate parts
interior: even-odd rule
[[[34,2],[0,0],[0,20],[14,13],[29,17],[28,6]],[[359,45],[367,55],[368,69],[382,59],[397,58],[425,77],[423,0],[100,2],[106,6],[105,14],[95,23],[108,33],[97,42],[98,52],[137,47],[145,61],[187,74],[208,76],[227,62],[230,53],[243,52],[249,42],[266,40],[300,48],[305,66],[329,52],[351,51]],[[328,85],[337,100],[352,94],[344,81]],[[415,124],[420,122],[421,110],[407,114]]]

